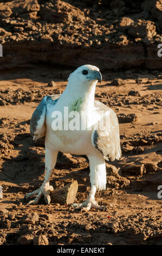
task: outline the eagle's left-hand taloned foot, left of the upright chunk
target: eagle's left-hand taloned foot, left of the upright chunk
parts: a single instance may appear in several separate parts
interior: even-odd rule
[[[53,190],[54,190],[53,186],[50,186],[49,183],[45,184],[45,185],[43,184],[37,190],[26,194],[24,196],[24,200],[27,200],[28,198],[37,194],[36,198],[34,200],[30,200],[28,204],[38,204],[40,198],[44,195],[44,200],[49,205],[50,204],[50,192],[53,191]]]

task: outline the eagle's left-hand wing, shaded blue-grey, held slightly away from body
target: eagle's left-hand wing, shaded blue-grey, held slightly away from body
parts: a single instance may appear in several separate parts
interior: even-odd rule
[[[55,105],[61,94],[49,95],[43,97],[40,104],[35,109],[31,120],[30,120],[30,135],[33,140],[36,141],[38,138],[42,138],[46,135],[46,111],[47,103]]]

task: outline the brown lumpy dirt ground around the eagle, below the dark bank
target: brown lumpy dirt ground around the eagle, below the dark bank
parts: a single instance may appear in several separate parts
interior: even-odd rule
[[[46,205],[43,198],[38,205],[24,202],[44,179],[44,147],[30,137],[31,114],[44,95],[63,92],[70,72],[44,65],[0,72],[0,245],[162,245],[157,195],[162,73],[157,71],[107,71],[96,86],[95,99],[112,107],[120,121],[122,157],[106,163],[107,187],[96,193],[106,211]],[[60,188],[73,180],[79,184],[79,203],[90,190],[87,158],[59,154],[50,184]]]

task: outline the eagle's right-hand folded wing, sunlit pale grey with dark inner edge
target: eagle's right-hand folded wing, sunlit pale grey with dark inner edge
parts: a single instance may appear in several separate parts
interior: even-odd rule
[[[113,109],[99,101],[95,101],[96,111],[101,119],[94,126],[92,144],[106,160],[120,159],[119,122]]]

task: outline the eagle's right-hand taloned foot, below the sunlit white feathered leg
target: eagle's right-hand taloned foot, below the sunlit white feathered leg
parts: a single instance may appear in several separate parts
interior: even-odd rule
[[[72,204],[72,206],[75,208],[75,209],[78,209],[81,211],[89,211],[90,208],[95,208],[95,209],[99,209],[101,211],[104,211],[106,210],[106,207],[105,206],[100,206],[98,204],[98,202],[96,202],[95,200],[90,200],[90,199],[87,199],[85,202],[81,203],[81,204]]]

